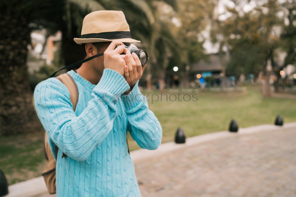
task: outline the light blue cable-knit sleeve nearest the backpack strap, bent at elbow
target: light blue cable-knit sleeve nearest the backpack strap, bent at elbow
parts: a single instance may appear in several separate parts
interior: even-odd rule
[[[119,95],[129,89],[122,75],[104,69],[87,107],[76,116],[67,87],[58,79],[37,84],[34,103],[37,115],[59,149],[76,160],[86,160],[112,130]]]

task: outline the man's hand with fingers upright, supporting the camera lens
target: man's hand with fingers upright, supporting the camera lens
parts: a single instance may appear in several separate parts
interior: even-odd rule
[[[126,66],[124,66],[124,78],[131,87],[131,89],[124,92],[124,94],[127,95],[131,92],[136,82],[141,78],[147,65],[142,66],[141,61],[136,53],[131,54],[129,51],[126,51],[125,60]]]

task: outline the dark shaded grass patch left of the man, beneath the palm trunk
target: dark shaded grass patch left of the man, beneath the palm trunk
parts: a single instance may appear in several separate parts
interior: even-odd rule
[[[45,166],[43,133],[0,136],[0,168],[13,184],[41,176]]]

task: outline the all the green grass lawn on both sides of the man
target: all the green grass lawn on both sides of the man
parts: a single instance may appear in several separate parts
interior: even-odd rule
[[[281,114],[284,122],[296,121],[295,99],[263,98],[259,86],[248,86],[247,92],[199,92],[197,102],[158,101],[149,109],[163,128],[163,143],[173,141],[178,127],[187,137],[228,130],[232,118],[239,127],[273,124]],[[143,91],[144,92],[144,91]],[[186,93],[186,92],[184,92]],[[40,176],[45,165],[43,131],[26,135],[0,136],[0,168],[9,184]],[[138,149],[128,136],[131,150]]]

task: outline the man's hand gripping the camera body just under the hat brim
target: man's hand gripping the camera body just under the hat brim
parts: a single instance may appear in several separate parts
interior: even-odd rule
[[[115,50],[116,45],[118,46]],[[120,55],[121,53],[126,53],[127,49],[124,44],[119,41],[112,41],[104,52],[104,67],[105,69],[112,69],[119,72],[121,75],[124,74],[124,66],[126,66],[125,56]]]

